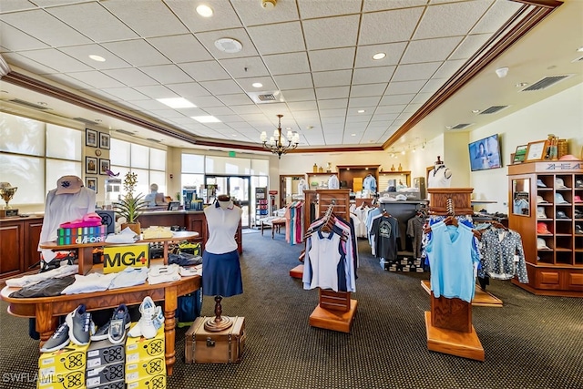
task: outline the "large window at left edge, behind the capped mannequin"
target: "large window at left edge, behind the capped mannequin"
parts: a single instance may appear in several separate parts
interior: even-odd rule
[[[80,128],[0,112],[0,181],[18,187],[10,203],[43,204],[61,176],[82,177],[84,136]]]

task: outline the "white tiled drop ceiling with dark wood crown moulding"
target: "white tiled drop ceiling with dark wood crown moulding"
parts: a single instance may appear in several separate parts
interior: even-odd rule
[[[271,11],[261,0],[3,0],[0,54],[10,69],[0,98],[5,107],[42,102],[36,108],[49,114],[170,146],[257,148],[277,114],[301,149],[411,145],[582,82],[582,3],[560,5],[498,53],[501,32],[549,8],[509,0],[278,0]],[[210,18],[196,13],[200,4],[210,5]],[[230,44],[215,45],[220,38],[237,40],[240,51],[221,50]],[[509,67],[508,76],[497,78],[496,67]],[[563,75],[548,90],[517,88]],[[269,94],[275,100],[253,99]],[[158,100],[169,97],[196,107]],[[497,106],[505,108],[479,115]]]

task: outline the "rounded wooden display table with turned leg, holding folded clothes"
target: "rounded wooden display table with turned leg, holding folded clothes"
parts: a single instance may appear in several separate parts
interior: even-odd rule
[[[98,271],[98,265],[95,270]],[[54,297],[36,297],[28,299],[15,299],[9,297],[10,293],[18,288],[5,287],[0,292],[0,298],[8,302],[8,313],[18,317],[36,318],[36,331],[40,333],[40,346],[55,333],[58,317],[73,312],[80,304],[87,306],[87,311],[97,311],[107,308],[117,308],[119,304],[137,305],[146,296],[150,296],[155,302],[164,302],[164,338],[166,342],[166,369],[172,374],[175,356],[175,312],[178,309],[178,298],[197,291],[200,288],[201,277],[199,275],[182,277],[180,281],[164,282],[155,285],[132,286],[103,292],[63,294]]]

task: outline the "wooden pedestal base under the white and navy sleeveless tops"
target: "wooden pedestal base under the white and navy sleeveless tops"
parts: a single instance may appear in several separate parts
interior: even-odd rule
[[[350,292],[320,290],[320,303],[310,315],[312,327],[350,333],[358,302],[350,298]]]

